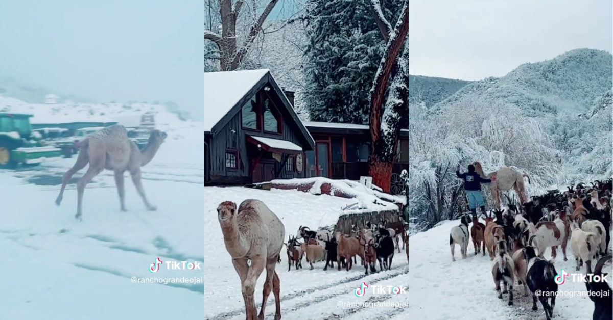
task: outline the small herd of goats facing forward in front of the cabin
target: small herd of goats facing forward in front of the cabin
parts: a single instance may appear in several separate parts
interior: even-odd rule
[[[313,268],[313,263],[326,261],[324,270],[334,267],[337,262],[338,270],[343,266],[347,271],[351,270],[354,263],[357,263],[356,256],[362,261],[365,273],[376,272],[376,262],[379,261],[379,269],[390,270],[394,251],[398,249],[400,253],[400,240],[402,249],[406,250],[408,259],[409,250],[406,242],[408,233],[405,231],[405,223],[402,221],[373,225],[367,222],[364,229],[352,229],[352,234],[343,234],[340,231],[332,236],[334,226],[319,228],[312,231],[307,226],[300,226],[296,236],[289,236],[285,244],[287,247],[287,270],[292,266],[296,270],[302,268],[302,258]],[[303,242],[299,240],[303,239]],[[279,260],[280,262],[281,260]]]

